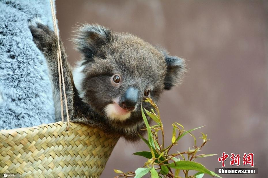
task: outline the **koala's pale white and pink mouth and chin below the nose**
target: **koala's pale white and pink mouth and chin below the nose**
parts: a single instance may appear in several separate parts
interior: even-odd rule
[[[131,108],[131,111],[133,110],[135,110],[135,108]],[[129,109],[120,107],[116,102],[113,104],[108,104],[104,111],[106,116],[112,120],[123,121],[131,116],[131,111]]]

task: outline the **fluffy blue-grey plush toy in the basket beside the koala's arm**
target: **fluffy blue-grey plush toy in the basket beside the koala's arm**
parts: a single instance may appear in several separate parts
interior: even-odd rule
[[[28,22],[53,29],[49,0],[0,0],[0,129],[55,122],[48,66]]]

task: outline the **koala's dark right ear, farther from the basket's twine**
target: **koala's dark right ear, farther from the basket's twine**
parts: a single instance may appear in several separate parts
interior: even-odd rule
[[[170,90],[173,86],[181,83],[186,66],[184,60],[176,56],[165,55],[165,62],[167,64],[167,74],[164,89]]]

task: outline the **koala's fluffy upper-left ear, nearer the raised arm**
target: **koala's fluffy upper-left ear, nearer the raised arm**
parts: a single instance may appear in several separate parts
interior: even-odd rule
[[[100,25],[83,24],[76,30],[73,42],[76,49],[88,59],[101,54],[102,45],[111,41],[111,30]]]

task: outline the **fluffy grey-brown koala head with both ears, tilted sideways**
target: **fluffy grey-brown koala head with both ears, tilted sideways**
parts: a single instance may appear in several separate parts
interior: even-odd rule
[[[74,39],[83,55],[73,79],[83,102],[122,132],[143,127],[141,102],[157,103],[163,90],[180,83],[184,60],[128,33],[85,24]],[[143,102],[149,109],[149,104]]]

